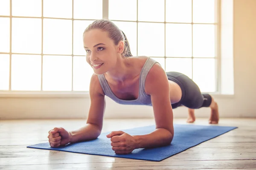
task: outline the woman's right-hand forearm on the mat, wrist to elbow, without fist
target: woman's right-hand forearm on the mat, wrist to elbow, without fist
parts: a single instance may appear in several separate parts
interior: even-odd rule
[[[160,147],[166,146],[172,142],[173,134],[163,128],[154,130],[154,132],[146,135],[136,135],[134,136],[137,148],[147,148],[147,147]]]

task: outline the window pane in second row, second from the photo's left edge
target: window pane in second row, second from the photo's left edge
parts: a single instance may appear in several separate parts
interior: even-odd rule
[[[41,54],[42,20],[12,18],[12,52]]]

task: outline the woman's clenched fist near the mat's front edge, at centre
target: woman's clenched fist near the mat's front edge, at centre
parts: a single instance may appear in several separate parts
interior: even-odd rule
[[[107,135],[107,138],[111,138],[112,150],[116,154],[128,154],[135,149],[134,136],[123,131],[113,131]]]

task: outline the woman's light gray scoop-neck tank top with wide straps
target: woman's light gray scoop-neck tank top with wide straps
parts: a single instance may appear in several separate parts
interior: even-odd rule
[[[158,63],[154,59],[148,57],[145,64],[143,65],[143,68],[140,71],[140,85],[139,85],[139,96],[137,99],[134,100],[123,100],[116,97],[115,94],[113,94],[113,91],[111,90],[110,86],[108,85],[107,80],[105,79],[104,74],[99,74],[99,83],[102,87],[103,92],[106,96],[110,97],[113,101],[116,103],[122,104],[122,105],[149,105],[152,106],[151,103],[151,96],[147,95],[145,93],[145,80],[148,75],[148,72],[153,67],[155,63]]]

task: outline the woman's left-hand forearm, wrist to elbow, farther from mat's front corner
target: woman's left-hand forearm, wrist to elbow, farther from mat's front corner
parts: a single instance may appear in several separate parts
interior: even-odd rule
[[[70,143],[93,140],[96,139],[100,133],[101,130],[99,130],[98,126],[87,123],[84,127],[69,132]]]

